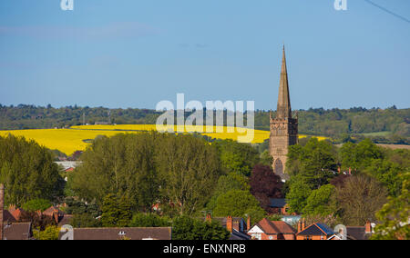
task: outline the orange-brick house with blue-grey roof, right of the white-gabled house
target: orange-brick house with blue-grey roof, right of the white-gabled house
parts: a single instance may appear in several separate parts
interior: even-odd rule
[[[335,233],[327,225],[323,223],[313,223],[305,227],[305,221],[298,223],[298,233],[296,240],[328,240]]]

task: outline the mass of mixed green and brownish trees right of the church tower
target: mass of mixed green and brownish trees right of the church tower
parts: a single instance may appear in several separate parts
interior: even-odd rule
[[[369,139],[340,148],[328,141],[304,139],[290,148],[286,168],[291,180],[283,192],[291,212],[301,213],[308,223],[400,225],[410,215],[408,200],[404,201],[409,190],[409,161],[410,151],[384,149]],[[397,205],[403,209],[394,210]],[[402,224],[396,229],[405,227]],[[386,232],[387,226],[379,231]]]

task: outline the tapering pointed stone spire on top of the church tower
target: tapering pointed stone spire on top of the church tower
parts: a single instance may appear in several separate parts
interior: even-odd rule
[[[289,95],[288,71],[286,68],[286,55],[283,45],[281,82],[279,84],[278,108],[276,118],[292,118],[291,98]]]

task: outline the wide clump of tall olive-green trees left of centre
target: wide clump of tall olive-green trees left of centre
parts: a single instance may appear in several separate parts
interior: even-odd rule
[[[202,208],[220,176],[216,149],[192,135],[118,134],[97,139],[82,155],[72,189],[101,204],[107,193],[127,196],[132,212],[174,203],[179,213]]]

